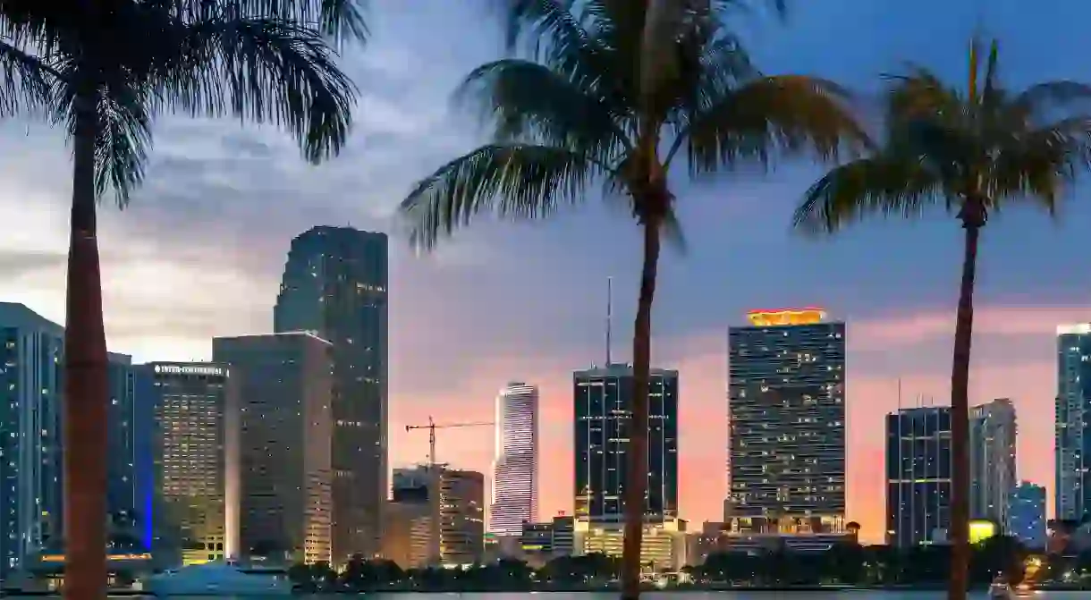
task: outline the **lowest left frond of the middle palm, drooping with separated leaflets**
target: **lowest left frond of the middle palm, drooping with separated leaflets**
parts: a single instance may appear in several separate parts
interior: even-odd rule
[[[455,158],[417,183],[401,203],[411,243],[431,249],[481,213],[537,219],[561,203],[584,200],[601,171],[588,157],[566,148],[493,144]]]

